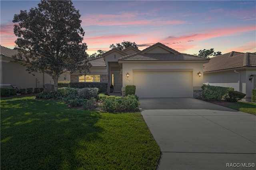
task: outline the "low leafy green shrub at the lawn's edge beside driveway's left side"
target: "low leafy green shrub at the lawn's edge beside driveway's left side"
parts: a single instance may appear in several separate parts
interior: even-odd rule
[[[100,108],[104,111],[135,111],[138,109],[140,102],[136,100],[136,96],[134,94],[128,95],[126,97],[112,97],[112,98],[104,98],[102,105]]]

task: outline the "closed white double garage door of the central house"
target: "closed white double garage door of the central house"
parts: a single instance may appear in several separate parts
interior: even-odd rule
[[[192,97],[192,72],[133,72],[140,98]]]

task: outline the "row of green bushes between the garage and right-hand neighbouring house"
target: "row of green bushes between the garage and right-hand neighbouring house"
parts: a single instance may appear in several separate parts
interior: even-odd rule
[[[244,98],[246,94],[234,91],[231,87],[202,86],[202,98],[206,101],[227,100],[228,102],[237,102]]]

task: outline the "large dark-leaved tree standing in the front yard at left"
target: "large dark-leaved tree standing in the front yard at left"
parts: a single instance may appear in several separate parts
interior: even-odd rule
[[[58,90],[60,74],[90,72],[87,45],[82,43],[84,30],[79,11],[71,0],[41,0],[38,8],[15,14],[13,22],[18,55],[14,60],[26,66],[29,73],[52,76]]]

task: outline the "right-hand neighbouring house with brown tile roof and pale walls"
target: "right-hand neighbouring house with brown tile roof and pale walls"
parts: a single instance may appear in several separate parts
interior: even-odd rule
[[[232,51],[210,58],[210,62],[204,64],[204,83],[232,87],[246,94],[246,101],[251,101],[252,89],[256,88],[256,53]]]

